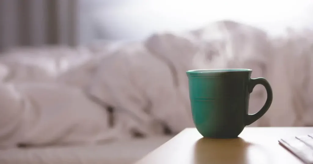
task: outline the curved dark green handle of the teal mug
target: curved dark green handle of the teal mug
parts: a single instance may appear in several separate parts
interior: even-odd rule
[[[271,86],[269,85],[269,82],[264,79],[263,77],[255,78],[255,79],[250,79],[249,85],[248,85],[248,91],[249,93],[252,93],[253,88],[257,85],[261,84],[265,87],[266,93],[267,93],[267,99],[261,110],[255,114],[247,114],[245,118],[245,125],[250,125],[254,123],[256,120],[261,118],[269,109],[269,107],[272,104],[273,101],[273,91]]]

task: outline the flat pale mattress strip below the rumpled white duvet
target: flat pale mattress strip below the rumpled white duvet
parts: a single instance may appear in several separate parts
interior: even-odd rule
[[[66,147],[0,150],[1,164],[132,164],[172,137]]]

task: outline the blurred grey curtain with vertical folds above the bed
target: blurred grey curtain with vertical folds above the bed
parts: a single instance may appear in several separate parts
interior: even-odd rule
[[[78,0],[0,0],[0,50],[77,45]]]

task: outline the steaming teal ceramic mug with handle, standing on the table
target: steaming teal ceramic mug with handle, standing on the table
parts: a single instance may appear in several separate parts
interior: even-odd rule
[[[269,109],[273,93],[266,79],[252,79],[250,69],[187,71],[193,122],[203,137],[236,138],[244,127],[261,118]],[[248,114],[249,96],[261,84],[267,92],[264,106]]]

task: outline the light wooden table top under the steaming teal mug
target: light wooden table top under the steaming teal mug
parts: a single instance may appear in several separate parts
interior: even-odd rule
[[[310,133],[313,127],[246,127],[237,139],[207,139],[187,128],[136,164],[302,164],[278,140]]]

